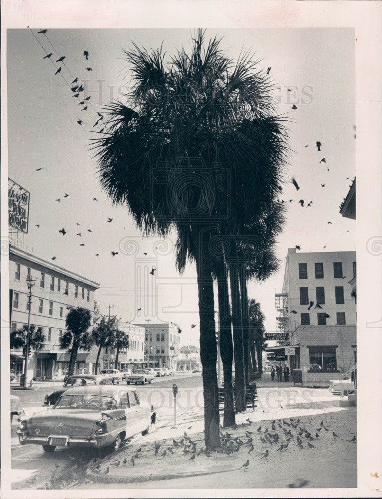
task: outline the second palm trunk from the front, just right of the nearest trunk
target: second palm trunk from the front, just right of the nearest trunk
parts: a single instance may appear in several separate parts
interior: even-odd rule
[[[232,319],[228,296],[228,278],[223,258],[216,261],[217,296],[219,303],[220,356],[223,364],[224,415],[223,426],[235,424],[232,389]]]

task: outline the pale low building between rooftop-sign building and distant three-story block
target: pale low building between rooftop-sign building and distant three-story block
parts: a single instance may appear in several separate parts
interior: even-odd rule
[[[118,369],[143,367],[145,361],[145,328],[130,322],[118,322],[118,329],[129,336],[129,347],[120,349],[118,354]],[[114,368],[116,349],[105,348],[101,352],[103,369]]]

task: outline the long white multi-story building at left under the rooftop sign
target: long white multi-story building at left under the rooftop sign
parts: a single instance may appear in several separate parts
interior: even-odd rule
[[[18,247],[19,246],[19,247]],[[17,330],[28,322],[27,279],[33,279],[30,324],[42,327],[43,348],[31,352],[27,365],[27,379],[51,379],[67,374],[69,354],[61,350],[65,319],[70,307],[84,307],[92,314],[94,291],[100,284],[26,251],[17,240],[9,244],[9,321],[10,330]],[[75,372],[91,372],[93,352],[80,351]],[[10,351],[10,367],[16,374],[23,372],[21,351]]]

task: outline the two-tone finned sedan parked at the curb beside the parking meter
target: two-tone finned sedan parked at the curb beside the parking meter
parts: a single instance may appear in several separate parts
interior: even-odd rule
[[[57,446],[118,450],[155,421],[154,407],[141,404],[131,388],[80,386],[60,395],[50,410],[22,419],[17,435],[21,445],[42,445],[45,452]]]

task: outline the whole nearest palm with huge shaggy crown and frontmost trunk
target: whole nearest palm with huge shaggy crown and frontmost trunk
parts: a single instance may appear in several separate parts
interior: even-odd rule
[[[282,120],[272,116],[268,76],[242,53],[233,63],[199,30],[191,48],[166,59],[162,47],[125,51],[130,106],[106,109],[96,140],[103,189],[127,207],[144,235],[178,236],[177,265],[196,264],[205,445],[220,445],[211,237],[236,219],[262,216],[280,192]],[[149,193],[149,195],[148,195]],[[228,207],[228,212],[227,212]],[[232,220],[231,213],[238,213]],[[241,224],[241,225],[240,225]]]

